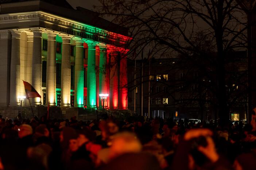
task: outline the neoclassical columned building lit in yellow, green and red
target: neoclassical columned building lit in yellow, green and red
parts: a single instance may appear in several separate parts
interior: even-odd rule
[[[65,0],[0,0],[0,106],[127,109],[127,29]]]

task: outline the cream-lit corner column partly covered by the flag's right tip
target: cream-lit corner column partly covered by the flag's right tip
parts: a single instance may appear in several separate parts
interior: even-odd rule
[[[40,29],[33,29],[34,39],[33,39],[33,57],[32,57],[32,86],[42,97],[42,31]],[[56,35],[55,35],[56,36]],[[50,40],[51,43],[55,43],[54,40]],[[49,36],[48,36],[49,42]],[[55,50],[54,50],[55,52]],[[51,54],[50,54],[51,55]],[[55,58],[54,56],[51,56]],[[48,53],[47,53],[47,63],[48,63]],[[48,102],[47,102],[48,103]],[[32,100],[33,105],[42,105],[41,98],[36,97]]]

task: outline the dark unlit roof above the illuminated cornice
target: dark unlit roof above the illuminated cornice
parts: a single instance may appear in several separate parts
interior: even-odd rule
[[[88,9],[82,7],[74,9],[66,0],[0,0],[0,5],[7,3],[11,5],[5,5],[4,8],[0,8],[0,14],[44,11],[93,27],[105,29],[106,31],[119,33],[124,36],[128,35],[127,28],[120,27],[117,24],[105,20],[99,17],[98,13]]]

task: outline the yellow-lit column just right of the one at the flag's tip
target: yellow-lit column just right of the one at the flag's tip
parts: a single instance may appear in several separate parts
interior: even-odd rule
[[[46,103],[56,105],[56,34],[47,33]],[[46,105],[47,106],[47,105]]]

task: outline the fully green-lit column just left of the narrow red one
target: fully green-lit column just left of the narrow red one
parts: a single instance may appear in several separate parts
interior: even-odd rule
[[[87,105],[96,106],[96,73],[95,57],[96,44],[88,43],[88,69],[87,69]]]

